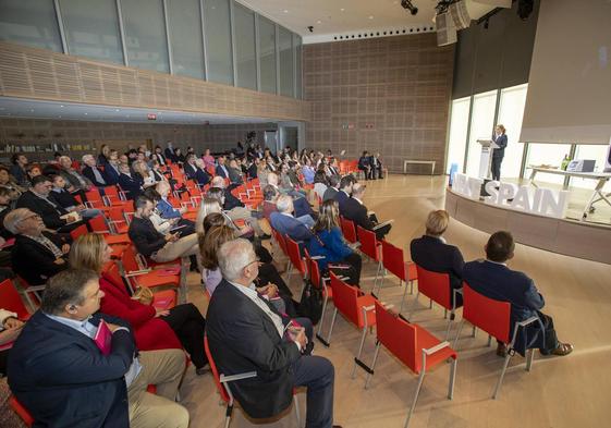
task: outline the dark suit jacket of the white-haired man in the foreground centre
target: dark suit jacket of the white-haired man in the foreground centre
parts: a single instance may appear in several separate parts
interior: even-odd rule
[[[255,378],[231,383],[246,414],[267,418],[291,405],[292,364],[301,357],[297,346],[282,340],[269,316],[225,280],[210,301],[206,334],[219,372],[257,372]]]

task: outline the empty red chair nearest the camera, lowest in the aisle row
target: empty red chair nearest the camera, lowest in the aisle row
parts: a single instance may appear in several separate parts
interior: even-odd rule
[[[452,366],[450,366],[448,400],[452,400],[454,395],[454,380],[456,378],[457,354],[456,351],[450,347],[450,343],[441,342],[420,326],[410,323],[403,317],[392,314],[379,302],[376,302],[376,354],[371,363],[371,371],[367,375],[365,389],[369,387],[369,381],[374,375],[380,346],[384,345],[401,363],[406,365],[416,375],[419,375],[416,393],[407,413],[407,420],[405,420],[405,428],[407,428],[418,401],[425,374],[449,358],[452,359]]]

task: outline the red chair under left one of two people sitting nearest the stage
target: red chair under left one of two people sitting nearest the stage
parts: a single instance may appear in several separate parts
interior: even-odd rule
[[[416,294],[416,299],[414,301],[411,314],[418,304],[418,297],[424,294],[429,298],[429,308],[432,308],[432,303],[436,302],[444,309],[443,317],[448,317],[448,310],[450,310],[450,318],[448,319],[448,329],[445,330],[445,339],[450,335],[450,328],[452,327],[452,321],[454,320],[456,313],[456,294],[460,294],[460,290],[453,289],[450,292],[450,274],[432,272],[416,265],[417,276],[418,276],[418,293]],[[410,315],[407,316],[410,319]]]

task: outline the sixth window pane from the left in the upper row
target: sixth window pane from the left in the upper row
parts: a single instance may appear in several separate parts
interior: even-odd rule
[[[235,34],[235,68],[237,86],[257,89],[257,57],[255,51],[255,13],[233,3],[233,28]]]

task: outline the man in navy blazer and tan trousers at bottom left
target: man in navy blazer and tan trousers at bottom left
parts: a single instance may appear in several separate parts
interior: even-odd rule
[[[184,352],[138,353],[125,321],[96,314],[101,297],[94,271],[66,270],[49,280],[9,355],[15,398],[40,427],[186,428],[188,412],[174,402]],[[108,355],[94,341],[101,319],[111,335]]]

